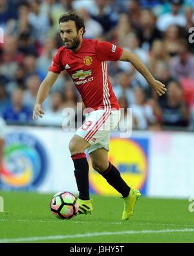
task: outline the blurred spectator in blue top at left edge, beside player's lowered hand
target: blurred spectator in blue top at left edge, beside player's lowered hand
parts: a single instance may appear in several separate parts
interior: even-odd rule
[[[32,110],[23,104],[23,90],[15,88],[12,92],[12,102],[5,107],[2,117],[9,123],[27,124],[32,120]]]

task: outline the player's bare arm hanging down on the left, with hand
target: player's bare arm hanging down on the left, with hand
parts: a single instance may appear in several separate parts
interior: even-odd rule
[[[38,94],[36,96],[36,103],[34,105],[34,110],[33,110],[33,120],[37,119],[38,116],[42,118],[43,117],[42,115],[45,114],[43,111],[42,103],[48,96],[50,88],[52,87],[52,84],[54,84],[58,76],[59,76],[59,73],[48,71],[47,76],[39,86]]]

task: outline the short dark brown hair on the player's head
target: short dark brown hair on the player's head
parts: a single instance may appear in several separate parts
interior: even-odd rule
[[[69,20],[75,21],[77,31],[79,31],[81,29],[81,27],[83,27],[83,34],[85,33],[84,20],[83,20],[83,18],[78,16],[78,14],[76,14],[76,12],[65,12],[65,14],[62,14],[59,17],[59,23],[66,22]]]

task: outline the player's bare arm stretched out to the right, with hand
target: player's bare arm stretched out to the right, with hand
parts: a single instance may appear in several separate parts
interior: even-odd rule
[[[166,92],[165,85],[160,83],[160,81],[157,81],[156,79],[154,79],[154,77],[151,75],[149,70],[147,70],[146,66],[134,53],[131,53],[123,49],[122,55],[119,58],[119,60],[131,62],[131,64],[136,68],[136,70],[138,70],[145,77],[147,83],[149,83],[149,85],[153,88],[153,90],[155,90],[155,92],[159,96],[162,96],[162,94],[165,94]]]

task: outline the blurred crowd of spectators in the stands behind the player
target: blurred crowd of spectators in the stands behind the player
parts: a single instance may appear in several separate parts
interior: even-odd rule
[[[125,109],[121,122],[131,108],[133,129],[194,130],[192,0],[0,0],[0,116],[6,123],[32,124],[39,85],[62,45],[58,18],[72,10],[85,19],[85,38],[128,49],[166,84],[167,93],[158,97],[129,62],[109,62],[114,94]],[[76,110],[77,102],[81,98],[63,71],[36,124],[61,126],[62,110]]]

